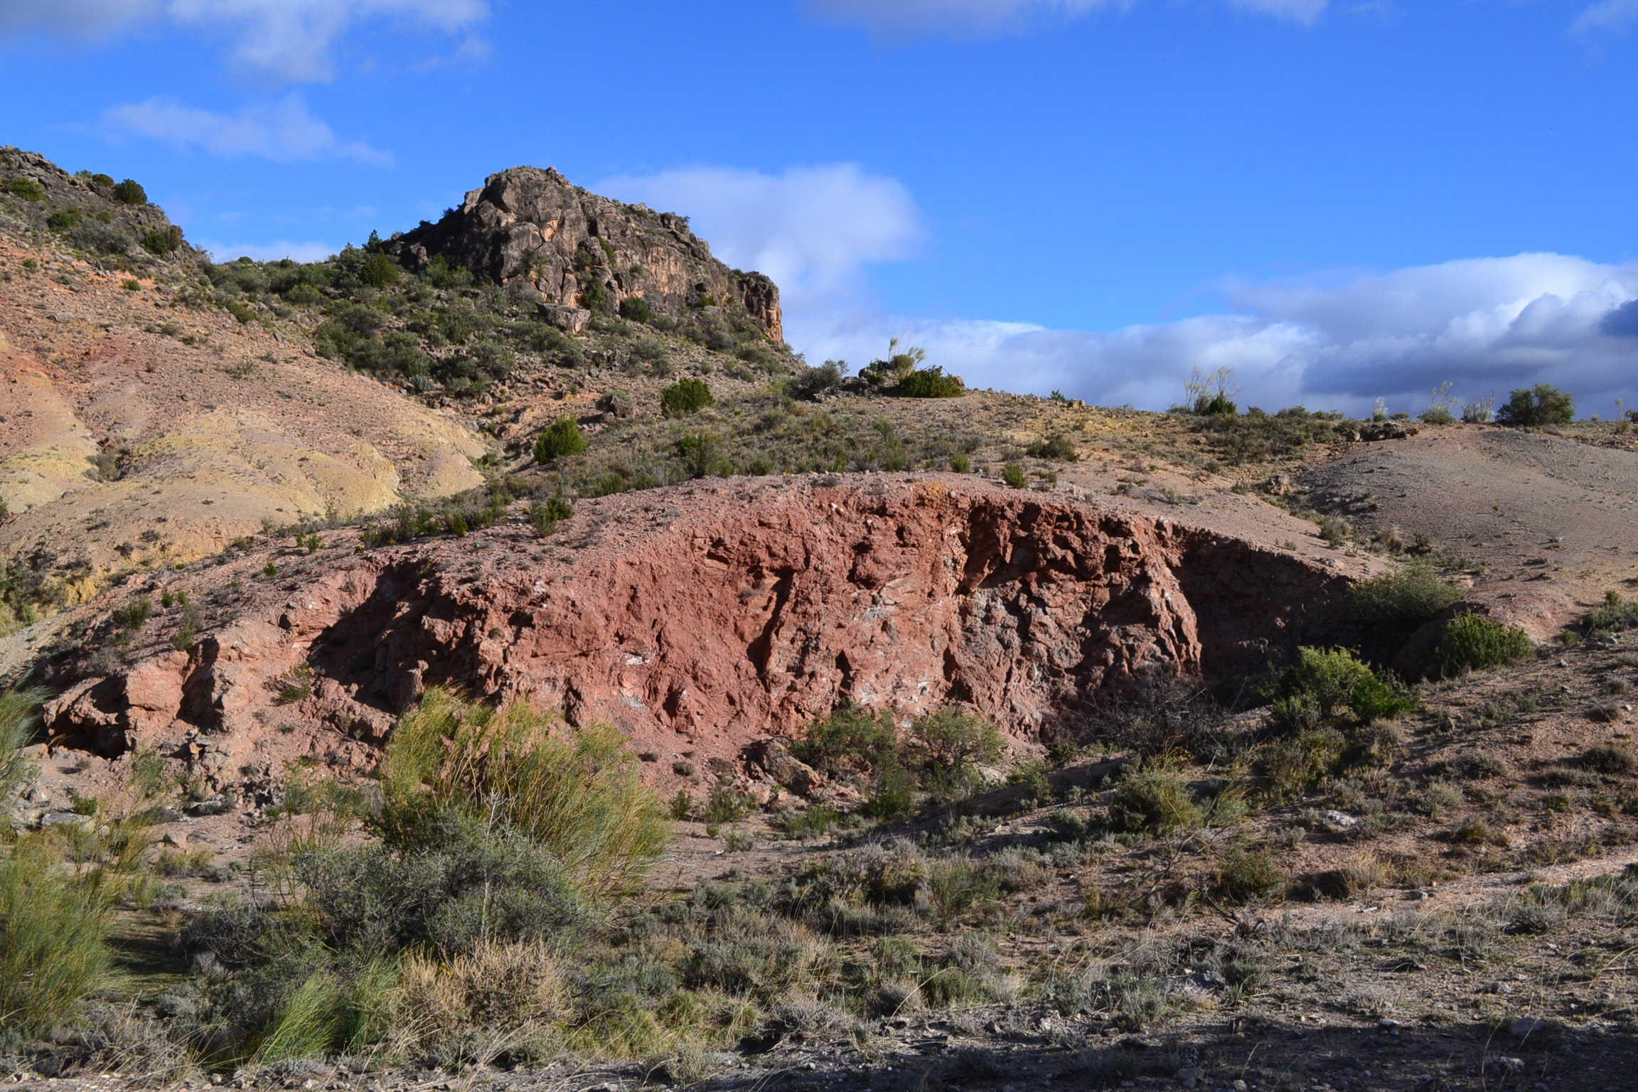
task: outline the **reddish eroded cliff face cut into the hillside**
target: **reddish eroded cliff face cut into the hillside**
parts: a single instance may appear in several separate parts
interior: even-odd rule
[[[48,720],[223,783],[292,751],[365,765],[434,684],[611,720],[660,760],[734,761],[840,701],[960,702],[1037,740],[1142,676],[1312,640],[1346,583],[1330,565],[980,478],[696,483],[585,501],[547,540],[519,516],[252,581],[190,653],[84,678]]]

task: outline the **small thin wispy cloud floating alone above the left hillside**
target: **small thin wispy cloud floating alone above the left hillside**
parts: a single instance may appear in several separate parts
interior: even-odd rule
[[[259,156],[277,162],[347,159],[390,167],[393,157],[369,144],[341,141],[334,129],[308,113],[300,95],[238,113],[211,113],[169,98],[115,106],[103,115],[115,136],[141,136],[179,147],[197,147],[221,159]]]

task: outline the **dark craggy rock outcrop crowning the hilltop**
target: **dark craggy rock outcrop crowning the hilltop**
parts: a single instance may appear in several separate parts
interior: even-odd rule
[[[739,305],[768,337],[785,339],[768,277],[714,259],[683,216],[588,193],[550,169],[490,175],[459,210],[395,236],[387,250],[416,270],[442,255],[505,285],[523,280],[555,309],[616,311],[634,296],[672,314]]]

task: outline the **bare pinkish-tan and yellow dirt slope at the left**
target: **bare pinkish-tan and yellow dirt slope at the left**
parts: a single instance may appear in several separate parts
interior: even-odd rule
[[[226,311],[177,308],[185,285],[7,239],[0,268],[0,557],[59,601],[264,522],[482,481],[486,449],[462,421]]]

